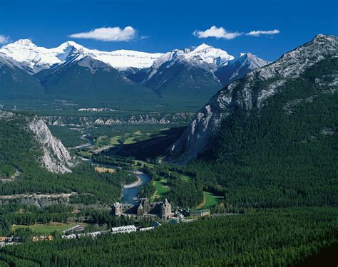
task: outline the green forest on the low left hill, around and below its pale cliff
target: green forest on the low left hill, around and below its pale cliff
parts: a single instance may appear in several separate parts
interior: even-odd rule
[[[109,203],[121,197],[122,184],[135,181],[135,176],[123,170],[113,174],[99,173],[86,162],[73,167],[71,173],[48,171],[40,160],[43,148],[29,130],[34,117],[26,113],[0,112],[0,178],[12,179],[0,183],[1,195],[76,192],[74,203]],[[44,134],[46,132],[41,133]]]

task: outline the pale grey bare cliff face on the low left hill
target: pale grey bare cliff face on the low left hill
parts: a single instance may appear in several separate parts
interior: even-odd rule
[[[34,133],[36,142],[43,150],[43,156],[39,159],[43,167],[50,172],[71,172],[73,158],[62,142],[51,135],[46,123],[41,118],[34,117],[34,120],[29,122],[29,130]]]

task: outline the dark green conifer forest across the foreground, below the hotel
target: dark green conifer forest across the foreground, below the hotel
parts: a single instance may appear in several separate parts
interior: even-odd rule
[[[7,246],[0,260],[12,266],[295,266],[338,241],[337,218],[330,208],[265,210],[96,240]]]

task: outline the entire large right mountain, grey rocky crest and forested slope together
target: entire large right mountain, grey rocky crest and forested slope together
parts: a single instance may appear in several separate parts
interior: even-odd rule
[[[221,90],[169,157],[197,155],[182,168],[228,207],[337,206],[337,43],[316,36]]]

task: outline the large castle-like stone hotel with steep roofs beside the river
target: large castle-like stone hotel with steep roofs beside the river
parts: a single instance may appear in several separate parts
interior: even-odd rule
[[[173,214],[171,212],[171,204],[168,199],[164,202],[150,202],[147,198],[139,199],[137,204],[121,204],[116,202],[113,205],[113,214],[116,216],[151,216],[160,219],[170,219]]]

